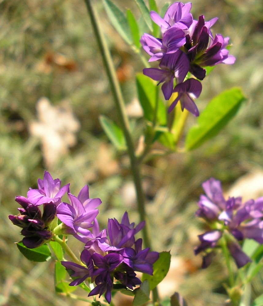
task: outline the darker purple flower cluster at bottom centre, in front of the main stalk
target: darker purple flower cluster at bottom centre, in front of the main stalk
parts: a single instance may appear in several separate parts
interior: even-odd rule
[[[80,235],[78,239],[86,243],[81,253],[81,261],[85,266],[73,262],[63,261],[62,265],[75,279],[70,285],[79,285],[86,278],[96,284],[89,296],[101,296],[110,303],[113,280],[116,279],[124,288],[133,289],[141,281],[135,271],[153,274],[153,263],[158,259],[157,252],[150,252],[149,248],[142,249],[142,239],[135,240],[135,234],[144,226],[140,222],[137,226],[130,223],[128,213],[125,212],[121,222],[115,218],[109,219],[107,230],[99,231],[95,219],[92,233]],[[107,232],[108,236],[107,237]]]

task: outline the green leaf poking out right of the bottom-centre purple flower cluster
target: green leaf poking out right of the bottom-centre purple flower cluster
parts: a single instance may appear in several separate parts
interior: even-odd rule
[[[142,280],[148,280],[150,290],[154,289],[165,278],[171,262],[170,252],[159,253],[159,258],[153,264],[153,275],[143,273]]]

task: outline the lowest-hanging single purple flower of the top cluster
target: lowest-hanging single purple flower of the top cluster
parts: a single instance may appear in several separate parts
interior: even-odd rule
[[[178,96],[170,105],[168,113],[170,113],[176,106],[177,102],[180,101],[182,110],[187,109],[194,116],[199,116],[199,111],[193,99],[198,98],[201,91],[202,84],[193,78],[188,79],[181,84],[177,84],[173,89],[173,92],[178,92]]]

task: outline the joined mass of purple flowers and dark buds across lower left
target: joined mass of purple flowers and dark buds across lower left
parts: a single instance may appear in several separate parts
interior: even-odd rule
[[[109,303],[114,279],[132,290],[141,283],[135,271],[153,274],[153,263],[159,254],[150,252],[149,248],[142,249],[142,239],[135,240],[144,221],[135,226],[125,212],[121,222],[109,219],[107,230],[100,231],[96,217],[101,200],[90,199],[88,186],[84,186],[77,197],[70,193],[69,184],[60,186],[61,181],[53,180],[45,171],[44,179],[38,180],[38,189],[30,188],[27,197],[16,197],[22,206],[18,208],[20,214],[10,215],[9,219],[22,228],[26,247],[36,248],[60,234],[73,235],[82,241],[85,244],[80,256],[83,265],[61,262],[74,278],[70,285],[79,285],[90,278],[96,286],[89,296],[105,293]],[[69,203],[61,200],[66,193]]]

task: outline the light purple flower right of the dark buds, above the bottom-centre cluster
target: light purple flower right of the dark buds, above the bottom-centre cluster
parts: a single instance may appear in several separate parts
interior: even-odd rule
[[[62,202],[57,207],[57,217],[67,228],[64,229],[67,234],[90,235],[88,228],[92,227],[92,222],[98,214],[95,209],[101,204],[101,200],[89,198],[89,188],[84,186],[78,197],[68,193],[70,204]]]

